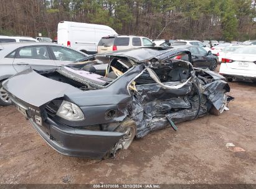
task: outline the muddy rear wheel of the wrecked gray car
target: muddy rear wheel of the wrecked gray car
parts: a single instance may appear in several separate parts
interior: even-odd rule
[[[115,147],[111,152],[112,155],[115,155],[115,153],[120,149],[126,150],[130,147],[136,134],[135,121],[130,118],[126,118],[125,121],[121,122],[120,126],[115,129],[115,131],[122,132],[125,136],[116,142]]]

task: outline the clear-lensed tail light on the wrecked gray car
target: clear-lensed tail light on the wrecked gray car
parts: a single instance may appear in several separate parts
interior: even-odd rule
[[[57,116],[70,121],[81,121],[85,119],[82,110],[73,103],[63,101],[57,111]]]

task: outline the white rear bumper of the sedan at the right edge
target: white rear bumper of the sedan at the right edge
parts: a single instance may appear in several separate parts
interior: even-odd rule
[[[219,74],[225,76],[225,78],[238,78],[238,79],[242,79],[242,80],[256,80],[255,71],[228,68],[226,63],[221,63]]]

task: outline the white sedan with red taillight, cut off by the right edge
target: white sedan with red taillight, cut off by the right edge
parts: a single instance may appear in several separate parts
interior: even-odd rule
[[[256,46],[246,46],[222,58],[219,73],[227,80],[256,81]]]

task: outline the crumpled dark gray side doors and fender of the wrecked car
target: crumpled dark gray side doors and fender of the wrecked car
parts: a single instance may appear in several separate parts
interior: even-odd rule
[[[202,83],[198,78],[194,79]],[[131,104],[131,118],[137,126],[136,137],[140,138],[151,131],[167,127],[170,122],[178,123],[203,116],[209,112],[212,104],[217,109],[220,108],[226,92],[225,85],[227,83],[223,80],[199,85],[199,90],[204,91],[200,109],[199,95],[191,90],[191,83],[179,90],[166,90],[159,85],[137,86],[138,93],[133,95]]]

